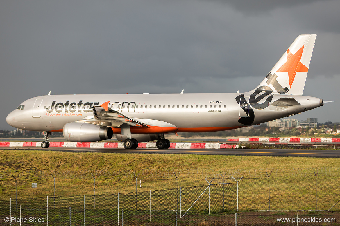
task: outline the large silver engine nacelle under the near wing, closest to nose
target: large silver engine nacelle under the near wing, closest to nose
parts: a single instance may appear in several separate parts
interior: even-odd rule
[[[95,142],[111,139],[110,127],[84,122],[69,122],[63,128],[64,138],[71,142]]]

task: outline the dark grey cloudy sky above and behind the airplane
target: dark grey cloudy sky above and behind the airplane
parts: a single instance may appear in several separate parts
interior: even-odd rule
[[[235,93],[300,34],[318,34],[304,95],[336,100],[293,118],[340,122],[340,1],[0,1],[0,128],[40,95]]]

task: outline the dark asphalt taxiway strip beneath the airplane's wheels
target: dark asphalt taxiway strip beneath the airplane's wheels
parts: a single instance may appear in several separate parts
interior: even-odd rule
[[[197,155],[243,155],[243,156],[296,156],[296,157],[321,157],[339,158],[338,150],[319,150],[319,149],[188,149],[188,148],[169,148],[169,149],[122,149],[122,148],[70,148],[70,147],[50,147],[48,149],[39,147],[1,147],[1,149],[19,150],[54,150],[67,152],[104,152],[104,153],[150,153],[150,154],[197,154]]]

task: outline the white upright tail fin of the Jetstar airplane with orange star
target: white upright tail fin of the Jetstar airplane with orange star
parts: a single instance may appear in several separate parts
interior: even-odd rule
[[[299,35],[266,78],[252,91],[302,95],[317,35]]]

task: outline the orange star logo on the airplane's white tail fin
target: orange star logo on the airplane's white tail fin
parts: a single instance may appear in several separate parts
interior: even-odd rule
[[[287,71],[289,77],[289,87],[292,87],[297,71],[308,72],[308,68],[303,65],[300,60],[304,46],[302,46],[295,54],[292,54],[289,49],[287,50],[287,62],[282,65],[277,71]]]

